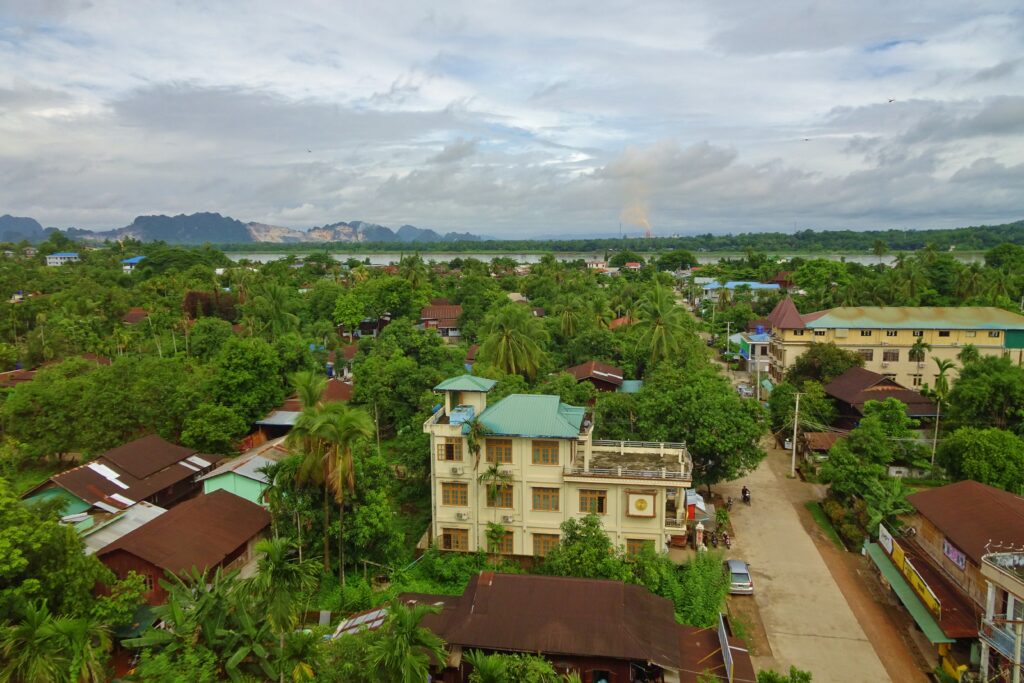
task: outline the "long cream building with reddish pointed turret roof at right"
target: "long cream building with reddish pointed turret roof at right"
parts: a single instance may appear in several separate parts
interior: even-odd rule
[[[1024,361],[1024,315],[983,306],[851,306],[801,314],[782,299],[768,316],[771,325],[772,381],[780,382],[812,343],[833,342],[864,358],[864,368],[906,387],[935,386],[932,358],[956,360],[973,345],[982,355],[1009,355]],[[931,350],[911,357],[914,343]],[[947,375],[955,381],[955,371]]]

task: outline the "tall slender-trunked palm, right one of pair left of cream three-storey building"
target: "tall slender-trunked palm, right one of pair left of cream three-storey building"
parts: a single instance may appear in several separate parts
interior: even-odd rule
[[[374,421],[366,411],[342,402],[329,403],[323,409],[328,418],[325,435],[328,442],[327,483],[334,494],[340,515],[338,530],[338,578],[345,585],[345,497],[355,494],[355,462],[352,447],[359,439],[374,435]]]

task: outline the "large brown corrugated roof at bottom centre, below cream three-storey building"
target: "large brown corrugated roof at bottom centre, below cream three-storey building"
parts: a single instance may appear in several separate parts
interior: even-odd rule
[[[457,606],[427,616],[424,626],[464,648],[679,667],[672,602],[616,581],[484,571],[470,580]]]

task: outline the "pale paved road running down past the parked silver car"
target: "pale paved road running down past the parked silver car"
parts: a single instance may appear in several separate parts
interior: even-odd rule
[[[739,500],[745,483],[753,505],[733,506],[735,543],[730,556],[751,564],[755,596],[772,657],[757,657],[759,668],[805,669],[822,683],[891,681],[814,542],[804,530],[782,472],[784,456],[775,452],[744,479],[720,486]]]

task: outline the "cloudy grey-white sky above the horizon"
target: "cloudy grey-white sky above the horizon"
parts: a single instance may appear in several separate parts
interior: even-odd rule
[[[1020,0],[0,0],[0,213],[44,225],[939,227],[1022,190]]]

